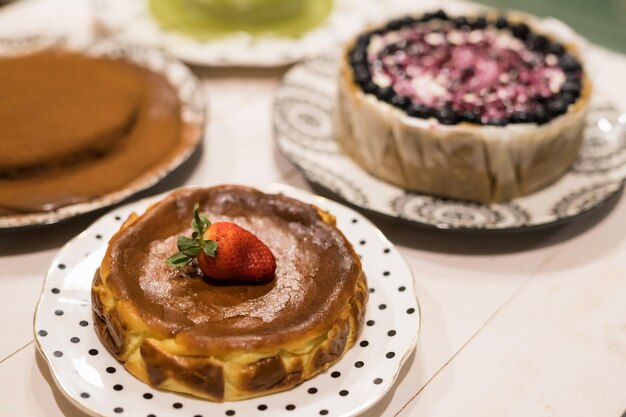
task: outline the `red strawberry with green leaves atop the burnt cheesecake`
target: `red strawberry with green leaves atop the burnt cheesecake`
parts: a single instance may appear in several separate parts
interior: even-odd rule
[[[197,259],[207,277],[228,280],[266,282],[274,277],[276,259],[258,237],[231,222],[211,224],[194,207],[191,238],[179,236],[178,250],[166,262],[179,267]]]

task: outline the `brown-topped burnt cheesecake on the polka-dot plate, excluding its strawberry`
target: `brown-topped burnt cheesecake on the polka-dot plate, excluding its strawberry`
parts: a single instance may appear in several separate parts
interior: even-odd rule
[[[177,248],[189,249],[180,236],[198,237],[189,227],[195,203],[214,222],[209,230],[244,228],[267,246],[269,280],[207,276],[200,258],[172,266]],[[223,236],[216,241],[215,259],[233,261]],[[367,294],[359,258],[330,214],[242,186],[178,190],[131,215],[92,288],[95,328],[126,369],[214,401],[282,391],[327,369],[354,344]]]

